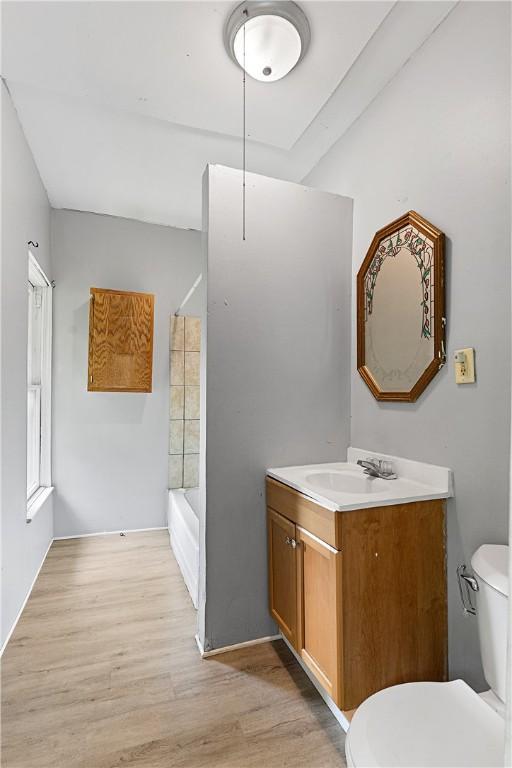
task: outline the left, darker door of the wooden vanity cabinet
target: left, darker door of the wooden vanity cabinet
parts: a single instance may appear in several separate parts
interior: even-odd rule
[[[289,642],[297,647],[297,557],[295,525],[267,510],[270,613]]]

